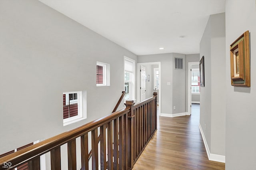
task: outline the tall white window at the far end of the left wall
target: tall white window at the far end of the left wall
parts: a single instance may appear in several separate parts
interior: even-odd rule
[[[135,95],[135,61],[124,57],[124,100],[134,99]]]

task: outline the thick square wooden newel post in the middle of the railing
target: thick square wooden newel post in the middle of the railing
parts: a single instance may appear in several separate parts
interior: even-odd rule
[[[126,108],[130,109],[128,113],[128,129],[127,134],[128,138],[126,141],[127,144],[127,163],[128,167],[131,169],[133,168],[134,164],[134,101],[133,100],[127,100],[124,105],[126,105]]]

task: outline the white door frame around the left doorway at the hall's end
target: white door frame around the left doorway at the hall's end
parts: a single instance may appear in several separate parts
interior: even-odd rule
[[[137,101],[140,102],[140,66],[156,65],[156,64],[158,65],[158,68],[159,68],[159,93],[158,93],[159,107],[158,108],[159,108],[159,114],[160,114],[161,113],[161,62],[137,63]],[[153,81],[153,79],[154,79],[154,76],[152,76],[151,80]]]

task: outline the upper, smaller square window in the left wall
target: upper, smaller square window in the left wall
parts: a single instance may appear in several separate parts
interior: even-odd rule
[[[97,61],[96,86],[110,85],[110,65]]]

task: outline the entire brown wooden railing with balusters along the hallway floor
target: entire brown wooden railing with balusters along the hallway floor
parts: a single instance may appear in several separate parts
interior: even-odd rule
[[[89,170],[89,167],[98,170],[99,165],[101,170],[132,169],[157,129],[156,95],[154,92],[154,97],[136,105],[134,101],[126,101],[125,109],[8,154],[0,158],[0,170],[14,169],[26,162],[29,170],[40,170],[40,156],[47,152],[50,152],[51,169],[60,170],[60,146],[63,144],[67,144],[68,170],[76,170],[76,138],[79,137],[82,170]],[[88,135],[89,132],[91,136]],[[89,138],[92,147],[91,163]]]

